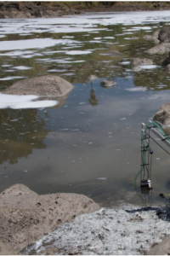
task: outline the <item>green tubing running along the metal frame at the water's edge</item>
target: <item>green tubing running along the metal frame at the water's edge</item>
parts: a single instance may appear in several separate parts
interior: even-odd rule
[[[145,126],[145,129],[144,129],[144,135],[143,135],[142,142],[141,142],[141,143],[143,143],[143,144],[142,144],[143,148],[144,148],[144,137],[145,137],[145,133],[146,133],[147,129],[150,128],[150,125],[154,125],[154,126],[161,132],[162,137],[165,137],[166,140],[170,143],[170,138],[167,137],[167,135],[165,134],[165,132],[161,129],[161,126],[158,125],[158,124],[156,124],[156,122],[154,122],[154,121],[150,121],[150,122],[148,123],[148,125]],[[146,154],[146,151],[144,150],[143,165],[142,165],[141,169],[139,170],[139,172],[136,174],[136,176],[135,176],[135,178],[134,178],[134,186],[136,186],[136,181],[137,181],[137,178],[139,177],[139,174],[144,170],[145,154]]]

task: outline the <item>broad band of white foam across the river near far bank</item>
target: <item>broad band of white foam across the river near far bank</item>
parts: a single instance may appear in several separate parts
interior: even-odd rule
[[[136,26],[141,24],[169,22],[169,11],[148,12],[122,12],[122,13],[97,13],[92,15],[74,15],[65,18],[42,19],[13,19],[4,20],[1,23],[0,34],[32,34],[32,33],[71,33],[71,32],[99,32],[107,31],[108,25],[124,24],[134,25],[133,32],[137,30],[149,31],[150,26]],[[72,26],[74,24],[74,26]],[[99,28],[97,25],[103,26]],[[105,26],[105,27],[104,27]],[[126,29],[126,27],[125,27]],[[43,40],[40,39],[39,40]],[[51,39],[53,40],[53,39]],[[20,40],[19,40],[20,41]],[[11,42],[11,41],[9,41]],[[1,42],[2,43],[2,42]],[[39,44],[40,46],[40,44]],[[0,47],[1,49],[1,47]]]

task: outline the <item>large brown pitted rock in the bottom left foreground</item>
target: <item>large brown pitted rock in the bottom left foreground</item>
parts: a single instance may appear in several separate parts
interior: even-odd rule
[[[0,250],[8,254],[4,248],[12,248],[18,254],[57,225],[97,210],[99,205],[85,195],[37,195],[22,184],[15,184],[0,194]]]

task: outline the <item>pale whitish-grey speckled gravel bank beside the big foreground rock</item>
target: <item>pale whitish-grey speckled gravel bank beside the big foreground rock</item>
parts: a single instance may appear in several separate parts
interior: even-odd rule
[[[101,208],[57,227],[22,253],[138,255],[170,235],[160,208]]]

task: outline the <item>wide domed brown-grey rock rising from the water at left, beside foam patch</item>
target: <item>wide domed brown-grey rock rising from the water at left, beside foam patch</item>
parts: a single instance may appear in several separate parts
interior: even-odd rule
[[[64,96],[73,88],[72,84],[58,76],[47,75],[20,80],[2,93],[13,95]]]

